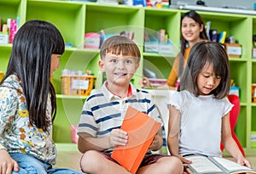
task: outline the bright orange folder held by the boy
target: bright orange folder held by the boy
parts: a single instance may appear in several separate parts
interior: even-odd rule
[[[121,126],[128,133],[128,143],[113,149],[111,157],[127,171],[136,173],[160,126],[160,122],[129,106]]]

